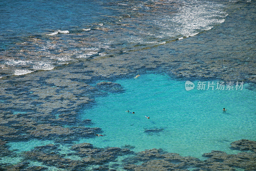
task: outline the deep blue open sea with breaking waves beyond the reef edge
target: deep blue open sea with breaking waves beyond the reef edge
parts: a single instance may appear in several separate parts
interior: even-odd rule
[[[3,1],[2,75],[152,48],[225,21],[214,1]],[[19,8],[16,8],[19,6]]]

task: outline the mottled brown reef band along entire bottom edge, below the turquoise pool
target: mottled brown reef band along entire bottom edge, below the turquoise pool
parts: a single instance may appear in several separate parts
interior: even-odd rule
[[[182,157],[178,153],[168,153],[162,149],[150,149],[135,153],[128,148],[107,147],[95,148],[92,144],[82,143],[70,146],[70,152],[61,153],[59,144],[37,146],[31,151],[21,154],[22,161],[15,165],[1,164],[1,170],[131,170],[131,171],[153,171],[153,170],[176,170],[176,171],[215,171],[215,170],[237,170],[244,169],[254,171],[256,168],[256,141],[246,139],[231,143],[230,148],[243,150],[237,154],[227,154],[222,151],[204,153],[206,160],[194,157]],[[5,142],[1,141],[1,157],[10,155]],[[76,156],[72,160],[70,156]],[[123,156],[117,162],[118,156]],[[33,166],[33,162],[40,166]],[[89,169],[91,168],[91,169]]]

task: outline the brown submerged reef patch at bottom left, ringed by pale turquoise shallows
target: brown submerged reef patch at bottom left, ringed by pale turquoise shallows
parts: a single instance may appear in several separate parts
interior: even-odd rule
[[[24,152],[23,156],[26,160],[42,162],[46,166],[54,166],[67,170],[85,170],[90,165],[104,165],[97,167],[96,170],[111,170],[108,168],[109,162],[116,161],[118,156],[133,153],[129,149],[121,149],[119,147],[93,148],[92,144],[81,143],[71,147],[75,151],[67,155],[61,154],[59,145],[44,145],[34,148],[31,151]],[[80,160],[72,160],[65,156],[80,156]],[[105,166],[106,165],[106,166]]]

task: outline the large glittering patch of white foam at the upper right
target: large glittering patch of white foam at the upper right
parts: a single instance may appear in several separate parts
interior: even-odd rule
[[[193,36],[195,32],[210,30],[209,28],[214,25],[223,23],[225,21],[223,18],[228,15],[227,12],[222,11],[224,5],[217,2],[177,0],[177,3],[182,4],[175,7],[179,12],[153,21],[153,24],[163,28],[159,36],[176,37],[179,34],[186,37]]]

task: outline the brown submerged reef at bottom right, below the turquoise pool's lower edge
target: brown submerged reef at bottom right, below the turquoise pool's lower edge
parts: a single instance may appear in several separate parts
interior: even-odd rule
[[[240,144],[238,143],[240,142]],[[243,143],[241,143],[243,142]],[[249,140],[235,141],[232,144],[247,146],[245,149],[254,149],[254,142]],[[194,171],[235,171],[236,168],[242,168],[249,171],[256,170],[256,153],[241,152],[238,154],[227,154],[222,151],[212,151],[204,153],[202,156],[207,160],[201,161],[194,157],[182,157],[177,153],[164,152],[162,149],[151,149],[136,153],[135,156],[123,160],[124,169],[134,171],[188,171],[192,168]],[[141,163],[143,162],[143,163]]]

